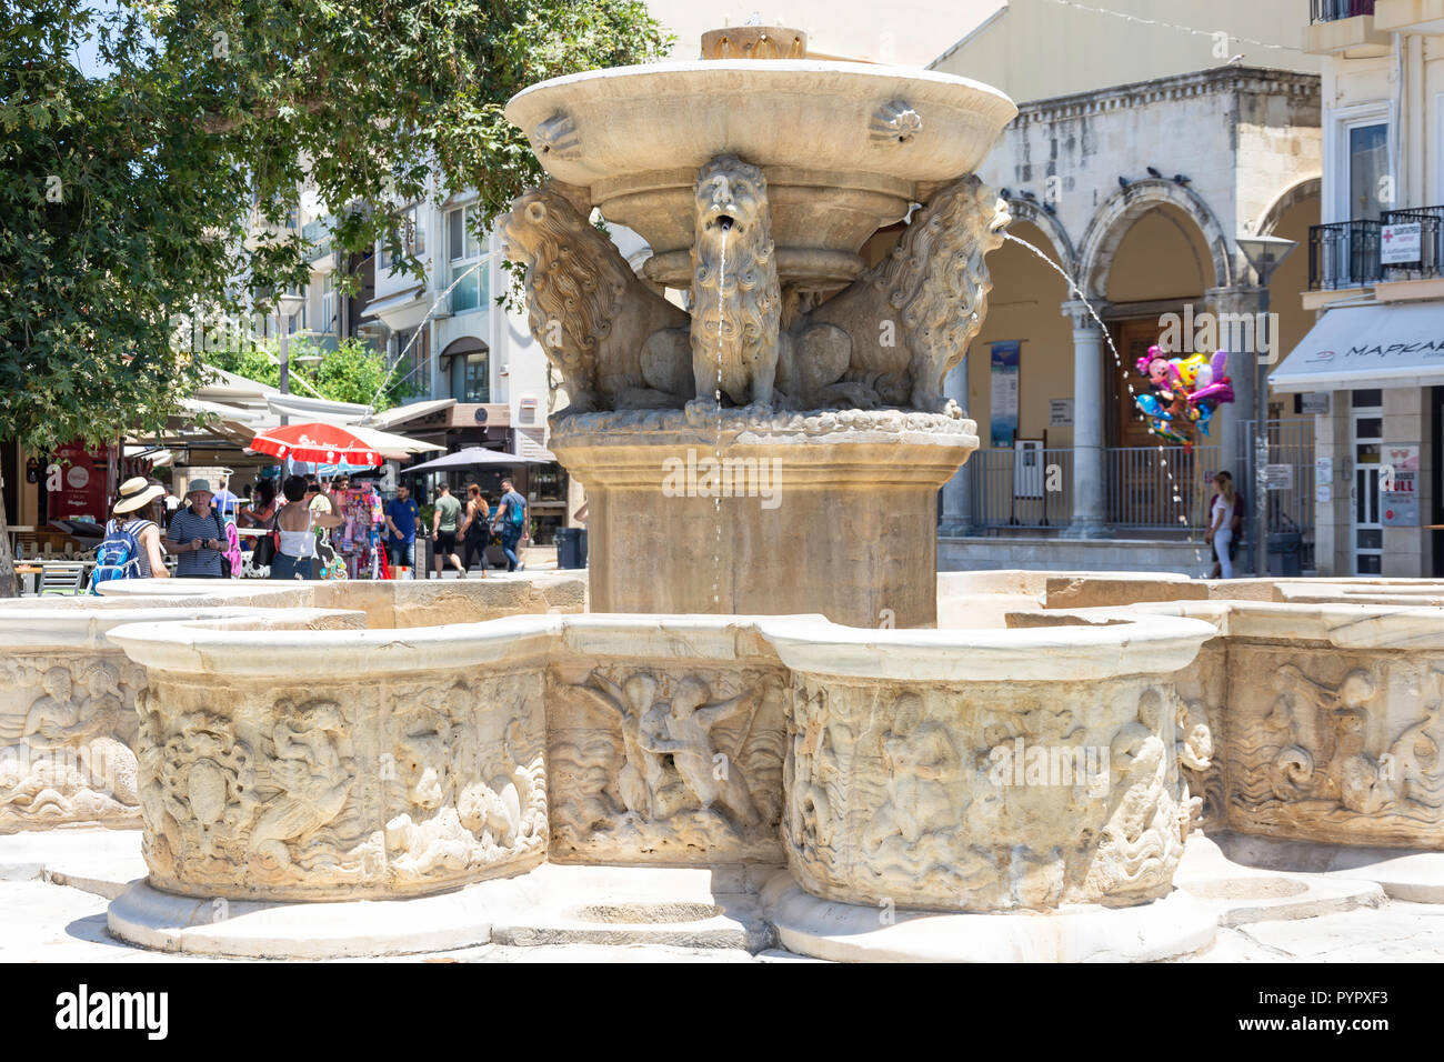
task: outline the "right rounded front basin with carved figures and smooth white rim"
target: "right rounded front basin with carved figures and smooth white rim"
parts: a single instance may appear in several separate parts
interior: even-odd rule
[[[791,673],[783,844],[813,896],[989,912],[1171,890],[1191,811],[1174,675],[1207,624],[761,629]]]

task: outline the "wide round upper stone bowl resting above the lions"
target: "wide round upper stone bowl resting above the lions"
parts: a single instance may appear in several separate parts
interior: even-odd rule
[[[693,182],[718,155],[767,175],[784,283],[848,282],[858,249],[943,182],[972,173],[1018,113],[996,88],[931,71],[813,59],[715,59],[553,78],[507,104],[546,170],[686,286]]]

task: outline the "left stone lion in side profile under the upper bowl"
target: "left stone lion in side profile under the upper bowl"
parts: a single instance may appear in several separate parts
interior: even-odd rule
[[[527,269],[529,324],[566,387],[563,416],[692,397],[687,314],[638,280],[559,191],[517,197],[503,236],[507,256]]]

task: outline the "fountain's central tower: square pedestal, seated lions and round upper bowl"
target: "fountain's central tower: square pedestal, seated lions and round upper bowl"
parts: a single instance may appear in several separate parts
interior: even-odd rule
[[[1017,108],[965,78],[806,59],[797,30],[718,30],[703,52],[507,105],[552,175],[505,236],[570,400],[552,446],[586,485],[592,608],[933,626],[937,490],[978,448],[943,377],[1008,223],[972,173]],[[593,208],[648,241],[645,280]]]

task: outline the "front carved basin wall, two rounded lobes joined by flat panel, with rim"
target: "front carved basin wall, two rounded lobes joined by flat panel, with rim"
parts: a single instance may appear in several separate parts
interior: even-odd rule
[[[149,673],[137,787],[166,892],[420,896],[549,854],[786,852],[829,899],[992,910],[1167,892],[1190,808],[1180,748],[1193,741],[1207,766],[1207,731],[1180,731],[1168,676],[1212,631],[1161,617],[957,633],[544,616],[111,637]],[[1004,681],[1024,662],[1037,682]],[[1063,675],[1060,707],[1047,691]],[[819,704],[838,720],[826,737]],[[1019,740],[1051,754],[1041,780]],[[1006,777],[999,751],[1018,757]],[[1060,763],[1079,773],[1047,774]],[[963,842],[979,829],[986,841]]]

